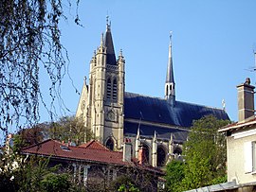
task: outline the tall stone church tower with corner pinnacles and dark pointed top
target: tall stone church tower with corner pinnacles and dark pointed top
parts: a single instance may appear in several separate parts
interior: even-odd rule
[[[99,141],[111,149],[120,149],[124,125],[124,58],[116,59],[111,26],[101,36],[101,44],[90,61],[89,84],[82,86],[76,116],[83,117]]]

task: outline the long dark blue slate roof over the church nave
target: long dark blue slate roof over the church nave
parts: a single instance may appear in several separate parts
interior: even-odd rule
[[[157,125],[146,126],[140,124],[139,128],[142,134],[154,135],[154,131],[156,131],[159,135],[162,135],[162,138],[169,139],[170,132],[181,132],[180,135],[176,136],[176,140],[183,140],[187,136],[186,131],[175,131],[176,128],[190,128],[193,120],[200,119],[203,116],[211,114],[218,119],[229,119],[224,110],[181,101],[176,101],[173,107],[163,98],[141,96],[127,92],[124,96],[124,114],[124,118],[127,119],[124,124],[125,134],[137,134],[138,125],[131,123],[128,119],[137,119],[138,121],[141,119],[141,121],[152,122]],[[163,124],[174,127],[174,130],[164,128],[161,126]]]

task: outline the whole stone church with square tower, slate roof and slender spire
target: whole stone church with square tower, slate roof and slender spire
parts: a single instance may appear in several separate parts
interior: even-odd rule
[[[137,158],[142,147],[145,164],[165,166],[182,154],[193,120],[210,114],[229,119],[224,110],[176,100],[171,38],[164,98],[126,92],[124,66],[121,50],[116,57],[107,22],[90,61],[89,82],[84,79],[76,113],[107,148],[122,150],[124,142],[130,143],[132,157]]]

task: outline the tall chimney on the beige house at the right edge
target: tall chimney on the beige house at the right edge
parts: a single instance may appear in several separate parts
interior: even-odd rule
[[[250,85],[250,79],[236,86],[238,92],[238,121],[242,122],[254,115],[254,86]]]

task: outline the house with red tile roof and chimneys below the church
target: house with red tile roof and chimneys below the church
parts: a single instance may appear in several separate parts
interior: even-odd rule
[[[119,152],[95,140],[75,147],[48,139],[23,148],[22,154],[49,158],[48,166],[62,165],[61,171],[71,172],[74,180],[83,183],[89,191],[110,187],[109,183],[124,175],[136,178],[140,184],[145,182],[144,191],[157,191],[158,177],[164,175],[160,169],[143,165],[143,148],[139,149],[138,161],[132,159],[129,141],[124,142],[123,152]]]

